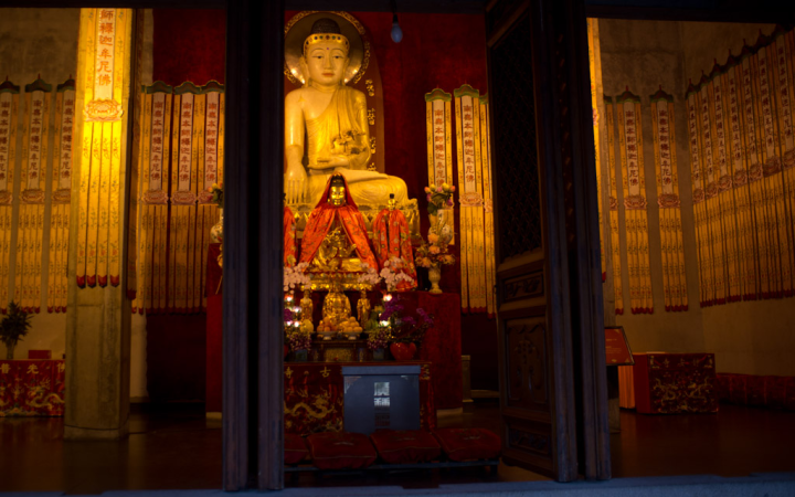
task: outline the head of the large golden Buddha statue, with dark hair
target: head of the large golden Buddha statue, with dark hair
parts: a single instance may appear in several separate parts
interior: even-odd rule
[[[342,82],[350,59],[350,43],[342,35],[339,24],[331,19],[315,21],[311,34],[304,41],[301,71],[308,81],[324,86],[335,86]]]

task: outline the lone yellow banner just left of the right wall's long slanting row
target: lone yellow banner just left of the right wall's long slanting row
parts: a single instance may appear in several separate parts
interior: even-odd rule
[[[674,129],[674,96],[665,93],[660,87],[657,93],[649,96],[649,101],[657,171],[665,309],[680,311],[688,309],[688,299]]]

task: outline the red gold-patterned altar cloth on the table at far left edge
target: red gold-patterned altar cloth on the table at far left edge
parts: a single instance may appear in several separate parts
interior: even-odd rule
[[[0,416],[62,416],[61,360],[0,361]]]

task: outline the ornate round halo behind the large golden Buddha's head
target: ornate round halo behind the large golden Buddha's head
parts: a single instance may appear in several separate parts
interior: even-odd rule
[[[304,42],[311,34],[316,21],[328,18],[337,22],[342,34],[350,42],[348,57],[350,62],[344,74],[344,83],[356,84],[367,71],[370,59],[370,42],[364,27],[347,12],[305,11],[299,12],[285,25],[285,75],[295,85],[306,81],[299,60],[304,54]]]

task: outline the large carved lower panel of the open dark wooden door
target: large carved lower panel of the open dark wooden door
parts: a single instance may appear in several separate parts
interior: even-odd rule
[[[505,325],[508,405],[543,409],[548,403],[544,318],[511,319]]]

